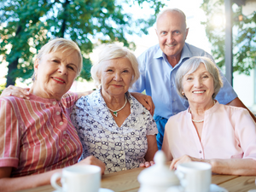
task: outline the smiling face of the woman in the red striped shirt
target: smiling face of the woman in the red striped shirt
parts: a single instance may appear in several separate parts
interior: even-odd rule
[[[60,50],[43,55],[34,64],[37,77],[32,86],[32,94],[61,100],[61,96],[72,86],[78,68],[79,55],[77,51],[67,54]]]

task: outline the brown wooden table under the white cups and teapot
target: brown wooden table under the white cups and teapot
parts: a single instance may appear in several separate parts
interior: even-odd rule
[[[114,192],[137,192],[140,187],[137,176],[143,169],[136,168],[104,175],[102,176],[101,187],[112,189]],[[249,189],[256,189],[255,178],[254,176],[212,175],[212,183],[218,184],[230,192],[247,192]],[[34,189],[22,190],[22,192],[52,192],[54,190],[50,185],[45,185]]]

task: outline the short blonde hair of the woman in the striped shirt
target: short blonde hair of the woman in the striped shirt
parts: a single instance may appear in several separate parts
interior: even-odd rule
[[[79,56],[79,66],[77,76],[79,76],[82,67],[83,67],[83,56],[81,54],[81,50],[79,49],[79,45],[74,43],[72,40],[68,40],[65,38],[55,38],[50,40],[47,44],[38,51],[37,59],[40,59],[45,55],[51,52],[62,51],[62,54],[70,55],[73,51],[76,51]],[[35,73],[32,76],[32,80],[35,80]]]

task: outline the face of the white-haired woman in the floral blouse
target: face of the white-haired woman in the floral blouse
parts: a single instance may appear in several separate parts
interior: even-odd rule
[[[129,89],[133,69],[131,62],[125,58],[102,61],[99,77],[102,84],[102,95],[124,96]]]

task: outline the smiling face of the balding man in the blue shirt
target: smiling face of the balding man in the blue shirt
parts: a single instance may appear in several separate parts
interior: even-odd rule
[[[186,29],[185,18],[177,11],[166,12],[160,15],[156,26],[160,49],[167,58],[176,57],[179,61],[189,31]]]

